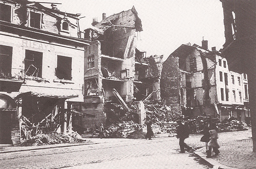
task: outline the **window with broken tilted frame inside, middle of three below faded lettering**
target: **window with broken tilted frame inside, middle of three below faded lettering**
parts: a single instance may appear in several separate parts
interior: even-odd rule
[[[25,72],[27,76],[42,77],[43,53],[26,50]]]

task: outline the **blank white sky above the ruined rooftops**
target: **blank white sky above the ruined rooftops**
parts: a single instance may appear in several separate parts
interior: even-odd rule
[[[32,1],[32,0],[31,0]],[[92,23],[131,9],[134,5],[142,21],[140,46],[147,56],[163,54],[166,59],[181,44],[201,45],[202,37],[208,47],[222,48],[225,42],[223,9],[219,0],[35,0],[62,3],[61,11],[81,13],[81,30]],[[50,7],[49,4],[42,4]]]

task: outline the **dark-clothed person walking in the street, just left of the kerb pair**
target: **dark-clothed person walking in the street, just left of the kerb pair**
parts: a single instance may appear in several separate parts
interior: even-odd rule
[[[184,143],[184,140],[189,137],[189,130],[187,131],[187,128],[184,124],[182,124],[181,120],[177,120],[177,138],[179,138],[179,144],[180,144],[180,153],[184,153],[185,149],[184,147],[188,148],[189,146]]]

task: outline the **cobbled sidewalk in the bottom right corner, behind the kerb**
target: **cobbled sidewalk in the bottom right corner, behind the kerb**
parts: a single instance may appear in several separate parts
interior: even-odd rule
[[[232,134],[233,133],[233,134]],[[253,152],[253,141],[251,137],[251,130],[244,132],[232,132],[231,137],[221,138],[222,133],[219,134],[218,143],[220,154],[215,156],[212,153],[212,158],[206,158],[205,147],[195,151],[195,155],[206,161],[207,163],[219,169],[256,169],[256,152]]]

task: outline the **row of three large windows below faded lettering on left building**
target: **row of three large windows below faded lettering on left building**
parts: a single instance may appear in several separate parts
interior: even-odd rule
[[[42,77],[43,53],[38,51],[25,51],[26,76]],[[58,79],[72,80],[72,58],[57,56],[55,75]],[[12,47],[0,45],[0,76],[12,77]]]

